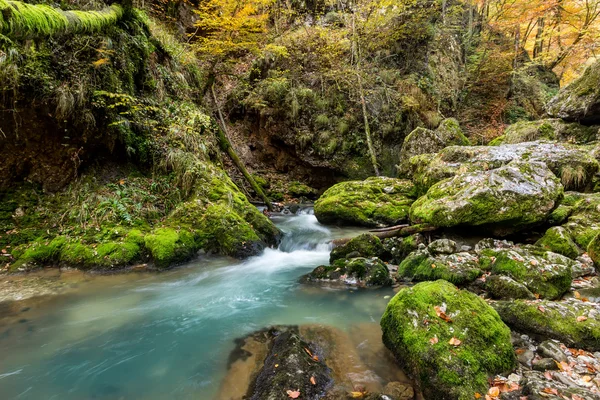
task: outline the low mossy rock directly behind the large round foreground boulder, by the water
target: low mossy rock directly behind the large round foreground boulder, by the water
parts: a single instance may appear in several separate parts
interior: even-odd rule
[[[398,278],[417,282],[443,279],[465,285],[482,274],[478,257],[470,253],[433,254],[417,250],[398,266]]]

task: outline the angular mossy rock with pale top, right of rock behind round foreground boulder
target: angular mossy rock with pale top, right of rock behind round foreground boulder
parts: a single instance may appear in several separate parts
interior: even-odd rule
[[[514,247],[495,252],[491,271],[510,276],[543,299],[554,300],[571,288],[576,264],[565,256],[533,246]]]

